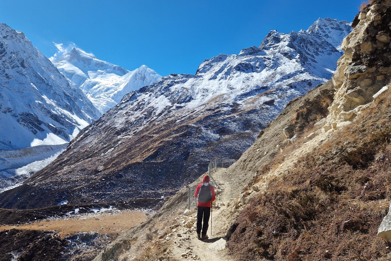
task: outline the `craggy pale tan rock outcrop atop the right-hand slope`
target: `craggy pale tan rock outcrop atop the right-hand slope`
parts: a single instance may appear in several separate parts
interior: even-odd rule
[[[373,100],[390,81],[390,1],[376,1],[356,16],[355,26],[342,43],[344,55],[332,76],[336,97],[324,131],[338,129]]]

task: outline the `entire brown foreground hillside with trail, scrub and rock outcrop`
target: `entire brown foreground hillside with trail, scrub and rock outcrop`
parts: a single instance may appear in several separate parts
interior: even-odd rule
[[[183,230],[193,217],[182,215],[183,188],[95,260],[389,260],[377,232],[391,201],[391,3],[371,3],[332,82],[290,102],[233,166],[212,174],[222,190],[212,239]],[[226,248],[215,248],[221,239]]]

